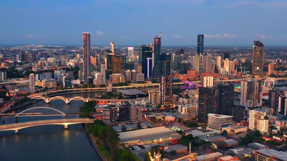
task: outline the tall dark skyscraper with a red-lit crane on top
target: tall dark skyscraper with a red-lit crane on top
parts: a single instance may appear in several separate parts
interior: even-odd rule
[[[161,37],[154,37],[153,53],[153,78],[160,78],[161,75]]]

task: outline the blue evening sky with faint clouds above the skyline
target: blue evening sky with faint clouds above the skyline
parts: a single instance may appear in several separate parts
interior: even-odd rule
[[[287,46],[287,0],[1,0],[0,44]]]

